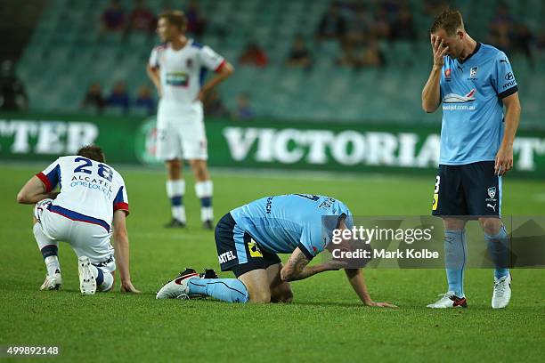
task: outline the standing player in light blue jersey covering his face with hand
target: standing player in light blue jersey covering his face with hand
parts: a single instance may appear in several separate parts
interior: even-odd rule
[[[460,12],[436,16],[430,33],[434,64],[422,91],[422,108],[435,112],[443,103],[432,209],[443,217],[449,288],[428,307],[467,306],[465,224],[478,219],[495,264],[492,308],[504,308],[511,277],[508,234],[500,220],[501,178],[513,167],[521,112],[517,81],[505,53],[469,36]]]

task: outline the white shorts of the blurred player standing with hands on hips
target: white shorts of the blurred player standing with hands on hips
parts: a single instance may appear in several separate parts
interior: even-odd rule
[[[202,107],[182,109],[164,103],[159,105],[157,157],[160,160],[207,160]]]

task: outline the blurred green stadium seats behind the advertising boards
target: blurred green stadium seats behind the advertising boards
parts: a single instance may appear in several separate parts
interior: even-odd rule
[[[50,2],[18,65],[32,109],[75,111],[94,80],[102,83],[105,93],[118,79],[126,80],[132,96],[139,85],[148,82],[144,67],[157,38],[142,34],[100,36],[100,18],[108,3]],[[132,1],[122,3],[126,11],[131,10]],[[340,52],[338,44],[313,42],[314,30],[329,0],[201,0],[207,33],[199,41],[223,54],[237,69],[236,77],[220,87],[229,108],[234,107],[238,93],[247,92],[257,115],[263,117],[437,122],[437,116],[423,114],[419,101],[431,61],[426,32],[430,20],[423,12],[422,2],[409,3],[418,39],[414,44],[382,42],[385,69],[339,68],[335,64]],[[484,40],[494,11],[490,2],[455,3],[468,14],[471,34]],[[540,29],[545,11],[541,0],[507,3],[517,19],[524,19],[536,31]],[[147,4],[159,13],[163,1],[148,0]],[[478,17],[472,17],[472,9],[479,9]],[[312,49],[315,66],[311,70],[289,69],[284,64],[297,34],[305,36]],[[264,69],[240,66],[237,62],[251,40],[267,52],[269,65]],[[545,54],[537,54],[535,69],[522,56],[513,55],[511,59],[521,85],[524,122],[539,123],[539,95],[545,91],[545,76],[536,69],[545,69]]]

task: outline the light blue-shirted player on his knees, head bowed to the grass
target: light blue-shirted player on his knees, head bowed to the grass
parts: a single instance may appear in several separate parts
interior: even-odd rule
[[[334,216],[336,226],[326,227],[322,217]],[[352,214],[342,202],[323,196],[290,194],[258,199],[225,214],[216,226],[216,249],[222,270],[236,278],[201,278],[187,269],[163,286],[158,299],[212,296],[230,303],[289,303],[290,281],[310,278],[346,267],[330,260],[309,266],[314,256],[328,248],[332,231],[352,228]],[[325,239],[324,239],[325,238]],[[277,254],[291,254],[286,265]],[[346,277],[362,303],[375,303],[367,291],[361,269],[345,269]]]

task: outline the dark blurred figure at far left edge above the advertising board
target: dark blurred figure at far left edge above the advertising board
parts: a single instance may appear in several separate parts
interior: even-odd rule
[[[11,60],[2,62],[0,73],[0,109],[18,110],[28,108],[28,97],[25,87],[15,75]]]

